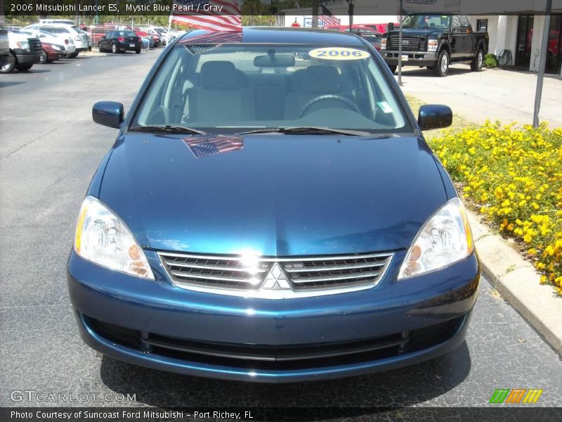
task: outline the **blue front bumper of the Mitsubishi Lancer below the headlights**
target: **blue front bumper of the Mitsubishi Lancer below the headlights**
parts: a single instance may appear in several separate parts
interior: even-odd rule
[[[240,381],[338,378],[437,357],[462,343],[480,279],[472,255],[396,281],[402,253],[372,289],[263,300],[177,288],[155,252],[146,255],[156,281],[72,252],[67,282],[81,337],[132,364]]]

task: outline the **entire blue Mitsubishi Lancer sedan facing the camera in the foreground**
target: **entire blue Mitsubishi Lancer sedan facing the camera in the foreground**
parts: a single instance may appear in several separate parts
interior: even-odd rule
[[[79,212],[84,341],[214,378],[381,371],[464,340],[480,265],[464,207],[379,54],[328,30],[196,30],[157,60]]]

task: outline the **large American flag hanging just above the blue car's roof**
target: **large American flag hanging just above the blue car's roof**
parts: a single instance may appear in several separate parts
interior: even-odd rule
[[[172,11],[171,21],[209,31],[242,31],[239,0],[174,0],[174,6],[190,6],[190,11]],[[222,6],[221,11],[205,11],[204,6]]]

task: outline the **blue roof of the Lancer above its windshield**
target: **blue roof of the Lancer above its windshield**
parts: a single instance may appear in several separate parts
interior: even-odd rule
[[[183,34],[180,44],[223,44],[225,32],[195,30]],[[232,32],[233,35],[236,32]],[[216,36],[217,41],[212,38]],[[296,27],[243,27],[242,37],[232,37],[228,43],[241,44],[312,44],[321,46],[364,46],[362,40],[348,32]]]

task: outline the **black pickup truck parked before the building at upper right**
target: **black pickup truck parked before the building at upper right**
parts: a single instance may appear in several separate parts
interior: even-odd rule
[[[381,55],[392,72],[398,67],[398,28],[389,28],[381,41]],[[408,15],[403,23],[402,65],[427,66],[446,76],[450,63],[470,63],[482,70],[488,53],[488,32],[473,32],[465,15]]]

